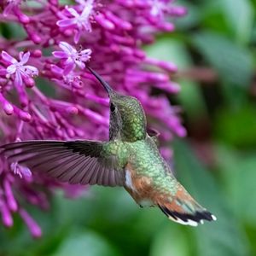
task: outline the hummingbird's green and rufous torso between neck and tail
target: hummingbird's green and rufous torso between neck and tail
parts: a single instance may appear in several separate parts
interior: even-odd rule
[[[125,166],[125,189],[141,206],[155,205],[166,195],[174,195],[177,182],[170,167],[148,137],[129,145],[130,158]]]

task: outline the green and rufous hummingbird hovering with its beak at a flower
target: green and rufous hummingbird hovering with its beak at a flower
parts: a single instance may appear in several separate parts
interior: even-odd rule
[[[60,182],[122,186],[140,207],[159,207],[166,216],[191,226],[216,220],[174,177],[160,154],[158,133],[147,131],[141,103],[113,90],[86,66],[109,97],[109,140],[33,140],[1,146],[9,162]]]

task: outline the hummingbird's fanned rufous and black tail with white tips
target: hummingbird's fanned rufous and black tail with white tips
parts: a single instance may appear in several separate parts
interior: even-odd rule
[[[178,190],[172,202],[159,202],[158,206],[168,218],[179,224],[197,226],[198,224],[203,224],[204,220],[212,221],[217,219],[206,208],[201,207],[183,187]]]

